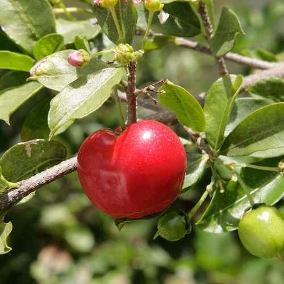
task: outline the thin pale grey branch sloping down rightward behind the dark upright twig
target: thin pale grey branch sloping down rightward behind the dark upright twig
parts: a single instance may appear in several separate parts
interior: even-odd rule
[[[212,52],[210,51],[210,49],[208,47],[205,47],[205,46],[203,46],[203,45],[201,45],[201,44],[199,44],[195,41],[189,40],[189,39],[177,37],[177,38],[175,38],[174,43],[178,46],[190,48],[190,49],[198,51],[200,53],[212,55]],[[261,69],[261,70],[274,68],[274,67],[277,67],[277,65],[279,64],[279,63],[274,63],[274,62],[267,62],[267,61],[260,60],[260,59],[250,58],[250,57],[247,57],[247,56],[242,56],[242,55],[239,55],[239,54],[233,53],[233,52],[228,52],[227,54],[224,55],[224,58],[229,60],[229,61],[235,62],[235,63],[247,65],[247,66],[250,66],[252,68]]]

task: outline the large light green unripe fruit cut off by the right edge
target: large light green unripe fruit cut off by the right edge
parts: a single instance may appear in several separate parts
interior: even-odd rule
[[[246,213],[238,233],[243,246],[255,256],[275,257],[284,249],[284,220],[274,207],[261,206]]]

